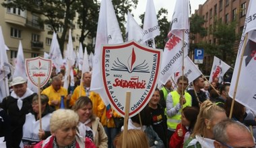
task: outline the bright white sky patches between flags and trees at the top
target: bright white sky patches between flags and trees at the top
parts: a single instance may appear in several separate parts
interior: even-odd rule
[[[154,5],[156,12],[160,10],[162,7],[168,10],[168,21],[171,20],[172,13],[174,11],[175,3],[177,0],[154,0]],[[191,13],[195,12],[195,9],[198,9],[200,4],[205,3],[206,0],[190,0],[191,3]],[[146,11],[147,0],[139,0],[137,4],[137,8],[133,9],[131,13],[135,17],[135,20],[138,24],[141,24],[141,20],[139,19],[139,15]]]

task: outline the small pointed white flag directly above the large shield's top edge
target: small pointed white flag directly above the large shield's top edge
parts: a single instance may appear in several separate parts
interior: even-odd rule
[[[144,44],[143,30],[141,29],[139,24],[137,24],[137,22],[133,18],[133,15],[131,15],[129,11],[127,13],[127,24],[126,24],[125,36],[126,36],[126,41],[136,40],[137,42]]]

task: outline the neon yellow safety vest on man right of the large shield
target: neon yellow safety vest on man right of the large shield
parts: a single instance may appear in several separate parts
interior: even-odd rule
[[[179,103],[181,96],[179,95],[178,91],[171,91],[170,94],[172,95],[173,106],[176,106]],[[186,103],[183,104],[183,108],[185,108],[186,106],[191,106],[191,96],[187,92],[185,92],[185,100]],[[181,110],[179,110],[179,112],[171,118],[167,116],[168,129],[175,130],[179,122],[181,122]]]

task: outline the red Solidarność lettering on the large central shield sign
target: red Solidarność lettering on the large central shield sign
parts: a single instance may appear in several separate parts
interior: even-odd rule
[[[144,89],[146,87],[146,81],[142,80],[139,82],[139,78],[131,78],[130,81],[127,81],[125,79],[115,79],[115,83],[113,86],[117,87],[123,87],[123,88],[133,88],[133,89]]]

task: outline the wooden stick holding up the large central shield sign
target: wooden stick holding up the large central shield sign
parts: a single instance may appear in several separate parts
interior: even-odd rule
[[[130,111],[130,102],[131,102],[131,91],[126,91],[125,97],[125,120],[123,122],[123,143],[122,147],[127,147],[127,131],[128,131],[128,118],[129,118],[129,111]]]

